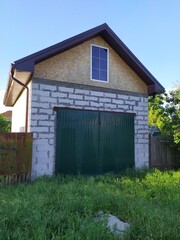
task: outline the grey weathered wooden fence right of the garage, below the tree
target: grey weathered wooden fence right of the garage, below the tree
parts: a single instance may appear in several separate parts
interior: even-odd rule
[[[149,163],[151,168],[178,169],[180,168],[180,151],[170,148],[158,137],[149,137]]]

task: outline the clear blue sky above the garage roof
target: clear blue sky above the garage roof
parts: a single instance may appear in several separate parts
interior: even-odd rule
[[[0,91],[15,60],[105,22],[166,89],[180,82],[180,0],[0,0]]]

